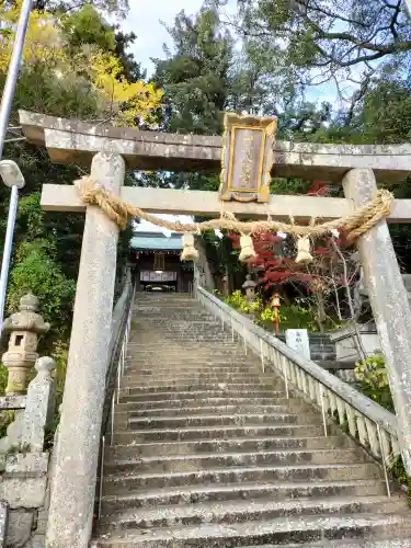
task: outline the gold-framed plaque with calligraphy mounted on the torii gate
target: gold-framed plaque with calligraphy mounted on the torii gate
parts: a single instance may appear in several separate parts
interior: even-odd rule
[[[220,199],[269,202],[275,118],[226,114]]]

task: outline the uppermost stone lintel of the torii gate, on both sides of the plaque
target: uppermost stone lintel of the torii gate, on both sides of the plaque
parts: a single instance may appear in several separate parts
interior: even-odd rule
[[[90,167],[96,152],[117,152],[135,170],[209,171],[221,169],[219,136],[165,134],[20,111],[28,142],[45,146],[52,161]],[[410,145],[274,145],[273,175],[342,182],[351,169],[373,169],[378,182],[395,183],[411,174]]]

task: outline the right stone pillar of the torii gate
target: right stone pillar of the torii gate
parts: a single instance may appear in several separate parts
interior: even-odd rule
[[[361,207],[377,192],[373,170],[354,169],[343,179],[344,193]],[[358,241],[364,281],[368,289],[389,386],[398,418],[398,441],[408,471],[411,470],[411,315],[386,220]]]

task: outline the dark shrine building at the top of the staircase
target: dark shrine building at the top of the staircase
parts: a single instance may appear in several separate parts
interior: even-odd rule
[[[136,275],[136,290],[193,290],[194,265],[181,262],[181,233],[138,231],[130,240],[130,262]]]

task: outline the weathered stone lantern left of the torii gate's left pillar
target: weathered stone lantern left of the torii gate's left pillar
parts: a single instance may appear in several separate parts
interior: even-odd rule
[[[4,320],[4,331],[10,332],[9,350],[2,356],[2,362],[9,369],[7,395],[26,392],[28,370],[38,357],[38,335],[50,329],[37,310],[37,297],[27,294],[20,299],[19,312]]]

